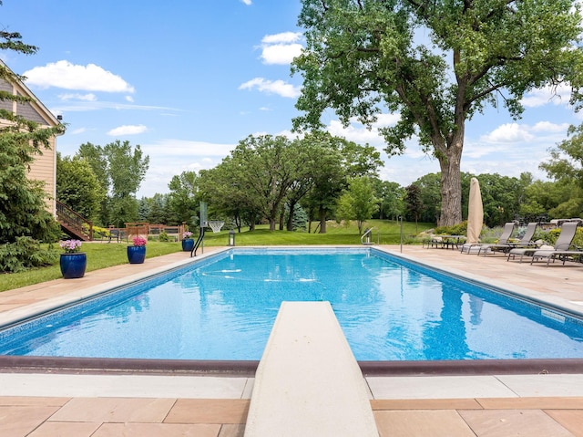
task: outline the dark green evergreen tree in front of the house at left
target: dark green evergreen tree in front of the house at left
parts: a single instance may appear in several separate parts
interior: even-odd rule
[[[36,47],[24,44],[18,33],[0,31],[0,50],[33,54]],[[23,78],[0,62],[0,81]],[[0,90],[0,270],[18,271],[54,262],[36,240],[55,241],[58,224],[46,211],[43,182],[28,178],[36,155],[50,147],[49,140],[64,131],[62,125],[45,128],[12,112],[12,104],[30,99]]]

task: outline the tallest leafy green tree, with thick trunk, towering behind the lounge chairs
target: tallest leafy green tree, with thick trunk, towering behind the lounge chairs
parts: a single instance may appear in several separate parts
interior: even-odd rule
[[[461,221],[465,122],[487,106],[513,118],[534,88],[569,83],[578,109],[583,52],[577,0],[302,0],[306,47],[296,129],[325,109],[370,126],[383,110],[389,156],[416,136],[441,169],[441,224]]]

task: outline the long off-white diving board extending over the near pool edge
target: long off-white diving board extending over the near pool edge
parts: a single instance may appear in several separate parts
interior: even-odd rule
[[[329,302],[283,302],[245,437],[378,437],[363,373]]]

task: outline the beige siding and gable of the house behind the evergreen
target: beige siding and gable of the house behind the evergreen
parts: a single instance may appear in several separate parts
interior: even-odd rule
[[[0,61],[2,62],[2,61]],[[43,127],[54,127],[60,124],[59,120],[46,107],[36,99],[35,95],[20,82],[11,84],[0,79],[0,89],[12,92],[15,96],[26,96],[32,101],[17,103],[13,101],[0,101],[0,107],[8,109],[26,120],[35,121]],[[0,123],[5,120],[0,120]],[[42,149],[42,155],[36,155],[31,164],[29,177],[31,180],[45,182],[47,195],[47,209],[56,215],[56,138],[49,141],[49,149]]]

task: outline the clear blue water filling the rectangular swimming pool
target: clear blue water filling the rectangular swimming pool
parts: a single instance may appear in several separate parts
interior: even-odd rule
[[[233,249],[0,331],[0,354],[261,359],[281,301],[327,300],[359,360],[583,358],[583,322],[373,248]]]

